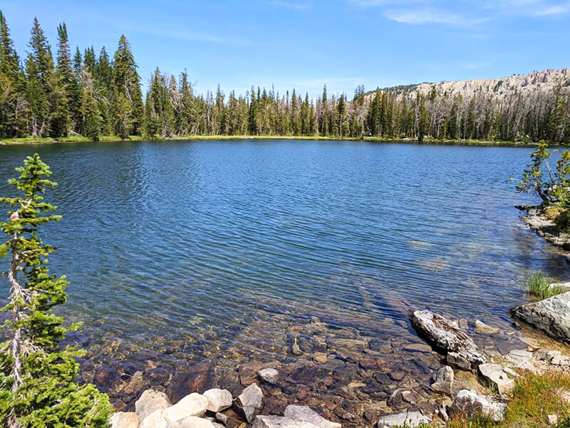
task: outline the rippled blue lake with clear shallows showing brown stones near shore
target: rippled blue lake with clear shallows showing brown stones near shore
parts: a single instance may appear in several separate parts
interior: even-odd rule
[[[513,208],[536,201],[509,180],[531,151],[279,139],[4,146],[0,194],[14,195],[6,179],[26,155],[51,165],[59,185],[47,200],[63,220],[43,240],[58,248],[51,271],[71,281],[60,311],[85,322],[71,336],[88,349],[84,376],[118,407],[149,385],[174,397],[207,384],[236,391],[247,376],[237,365],[257,362],[291,365],[289,401],[338,402],[350,381],[380,400],[440,365],[410,350],[421,342],[412,308],[500,327],[508,334],[494,342],[476,335],[500,352],[516,341],[509,309],[526,300],[524,276],[568,278],[566,259]],[[328,360],[315,364],[316,352]],[[403,375],[368,382],[367,370]]]

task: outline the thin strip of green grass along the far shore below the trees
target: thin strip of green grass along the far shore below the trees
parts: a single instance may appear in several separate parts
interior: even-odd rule
[[[425,138],[424,141],[417,139],[403,138],[382,138],[382,137],[327,137],[327,136],[176,136],[172,138],[144,138],[141,136],[130,136],[126,140],[122,140],[118,136],[102,136],[101,142],[110,141],[216,141],[216,140],[308,140],[308,141],[368,141],[376,143],[415,143],[430,144],[442,146],[532,146],[517,141],[480,141],[480,140],[436,140],[434,138]],[[62,138],[51,137],[24,137],[24,138],[0,138],[1,145],[13,144],[42,144],[42,143],[88,143],[92,142],[84,136],[68,136]]]

